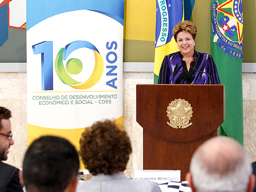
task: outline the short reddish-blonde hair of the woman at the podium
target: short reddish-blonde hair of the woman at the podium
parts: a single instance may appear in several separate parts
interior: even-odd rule
[[[178,33],[182,31],[190,33],[193,39],[196,40],[197,29],[193,22],[186,20],[186,21],[181,21],[177,23],[177,25],[175,25],[175,27],[173,28],[173,36],[176,42],[177,42]]]

